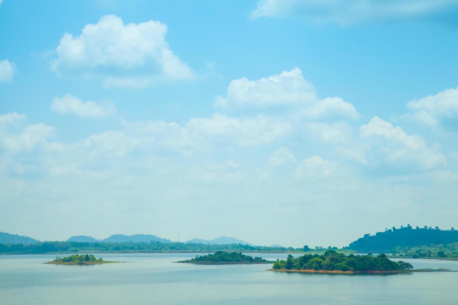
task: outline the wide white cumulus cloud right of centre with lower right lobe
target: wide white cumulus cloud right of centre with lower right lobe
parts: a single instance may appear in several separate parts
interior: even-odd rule
[[[304,79],[302,71],[295,67],[290,71],[259,80],[242,77],[232,80],[225,96],[217,96],[218,107],[299,107],[306,118],[346,116],[358,118],[354,106],[340,97],[320,100],[315,87]]]

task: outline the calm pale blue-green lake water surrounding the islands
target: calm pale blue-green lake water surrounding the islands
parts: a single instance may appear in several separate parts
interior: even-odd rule
[[[458,272],[329,275],[174,263],[195,255],[96,254],[129,262],[93,266],[41,264],[56,255],[0,256],[0,304],[458,304]],[[458,269],[458,261],[405,261]]]

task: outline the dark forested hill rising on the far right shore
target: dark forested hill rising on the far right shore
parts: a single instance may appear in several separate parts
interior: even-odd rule
[[[365,234],[348,247],[357,251],[391,251],[397,246],[420,246],[426,244],[446,244],[458,241],[458,231],[454,228],[441,230],[439,227],[416,227],[410,225],[400,229],[393,227],[385,229],[385,232],[377,232],[375,235]]]

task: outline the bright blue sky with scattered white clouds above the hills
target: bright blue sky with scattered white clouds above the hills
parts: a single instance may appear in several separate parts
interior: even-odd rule
[[[0,231],[347,246],[458,226],[457,0],[0,0]]]

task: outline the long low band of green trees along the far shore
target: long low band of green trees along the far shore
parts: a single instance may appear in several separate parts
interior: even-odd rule
[[[323,252],[336,247],[315,247],[308,246],[301,248],[293,247],[269,247],[249,246],[243,244],[208,245],[180,242],[89,242],[89,241],[44,241],[34,245],[27,244],[0,244],[2,254],[38,254],[38,253],[77,253],[77,252],[213,252],[213,251],[252,251],[252,252]],[[351,250],[344,250],[352,252]]]

